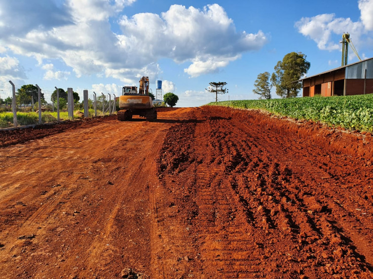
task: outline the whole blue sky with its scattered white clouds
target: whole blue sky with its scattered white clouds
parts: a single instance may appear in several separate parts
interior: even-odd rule
[[[289,52],[308,76],[340,66],[343,32],[373,57],[373,0],[0,0],[0,97],[9,80],[117,96],[146,75],[177,106],[213,101],[212,81],[227,82],[221,100],[256,99],[258,74]]]

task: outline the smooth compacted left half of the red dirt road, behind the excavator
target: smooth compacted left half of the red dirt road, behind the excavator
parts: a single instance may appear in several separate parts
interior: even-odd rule
[[[107,119],[0,150],[0,278],[151,273],[149,188],[158,182],[149,174],[178,121],[163,114],[164,122]]]

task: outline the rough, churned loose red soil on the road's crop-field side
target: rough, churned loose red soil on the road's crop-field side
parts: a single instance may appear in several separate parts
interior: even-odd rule
[[[170,277],[370,278],[372,166],[361,168],[369,156],[258,112],[204,107],[190,117],[193,125],[170,129],[159,158],[180,209],[173,218],[189,228],[186,252],[197,255]],[[347,199],[340,189],[357,182]],[[359,206],[364,220],[340,204]]]

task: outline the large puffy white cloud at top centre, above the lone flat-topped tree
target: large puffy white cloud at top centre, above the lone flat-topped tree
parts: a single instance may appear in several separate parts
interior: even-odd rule
[[[267,42],[262,31],[237,32],[218,4],[205,6],[203,10],[172,5],[160,16],[149,13],[123,16],[119,25],[122,29],[119,45],[128,53],[144,61],[162,57],[178,63],[190,61],[192,64],[185,72],[192,77],[225,67],[243,52],[258,50]]]

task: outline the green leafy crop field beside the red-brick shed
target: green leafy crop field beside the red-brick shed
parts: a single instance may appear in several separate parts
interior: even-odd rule
[[[373,131],[373,94],[212,102],[208,105],[263,109],[295,119],[319,121],[350,130]]]

